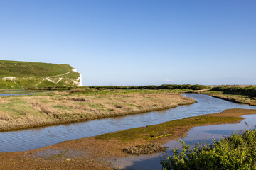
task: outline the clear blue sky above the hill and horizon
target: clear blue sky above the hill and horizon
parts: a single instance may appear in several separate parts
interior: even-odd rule
[[[256,84],[256,1],[0,0],[0,60],[87,86]]]

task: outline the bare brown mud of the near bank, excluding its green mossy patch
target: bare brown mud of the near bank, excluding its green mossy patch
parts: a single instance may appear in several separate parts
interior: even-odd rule
[[[201,115],[186,118],[187,120],[197,120],[202,116],[208,118],[233,118],[232,122],[238,123],[241,115],[256,114],[256,110],[249,109],[228,109],[221,113]],[[186,120],[182,119],[182,121]],[[181,121],[181,120],[174,120]],[[172,121],[170,121],[172,122]],[[33,149],[26,152],[4,152],[0,153],[0,169],[112,169],[110,160],[119,157],[127,157],[129,154],[122,152],[122,149],[134,145],[148,143],[164,144],[170,140],[184,137],[186,132],[198,125],[225,124],[227,122],[215,123],[194,123],[193,125],[176,126],[174,132],[169,137],[161,137],[154,140],[135,139],[122,142],[115,140],[101,140],[97,137],[86,137],[79,140],[70,140],[56,145]],[[159,124],[161,126],[161,124]]]

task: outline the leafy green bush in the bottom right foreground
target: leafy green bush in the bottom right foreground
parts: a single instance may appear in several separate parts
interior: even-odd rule
[[[169,169],[256,169],[256,131],[248,130],[242,134],[226,137],[213,145],[183,150],[174,149],[173,156],[161,158],[161,166]]]

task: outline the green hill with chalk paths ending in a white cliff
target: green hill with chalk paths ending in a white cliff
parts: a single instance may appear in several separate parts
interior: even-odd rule
[[[78,72],[68,64],[0,60],[0,89],[46,86],[82,86]]]

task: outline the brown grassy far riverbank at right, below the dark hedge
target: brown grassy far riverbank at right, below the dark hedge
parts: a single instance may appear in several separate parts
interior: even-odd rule
[[[225,101],[232,101],[234,103],[248,104],[250,106],[256,106],[256,98],[252,98],[245,95],[238,94],[223,94],[221,91],[196,91],[199,94],[206,94],[215,98],[220,98]]]

